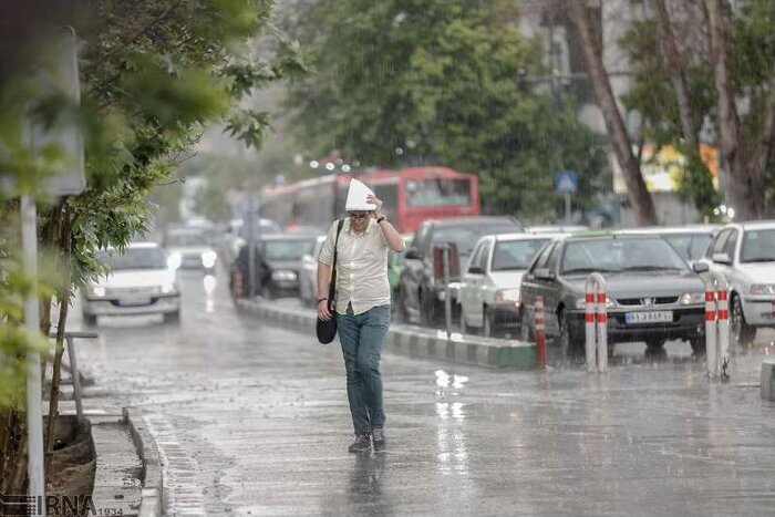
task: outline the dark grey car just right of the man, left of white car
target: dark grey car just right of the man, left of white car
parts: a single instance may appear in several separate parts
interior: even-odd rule
[[[461,270],[467,267],[474,246],[483,235],[515,234],[523,226],[512,217],[466,217],[426,220],[406,249],[405,265],[399,278],[399,316],[403,321],[418,321],[432,325],[444,314],[446,286],[434,279],[433,248],[454,242],[459,255]],[[459,285],[459,277],[451,278]],[[457,297],[453,290],[453,297]],[[457,312],[456,302],[453,307]],[[453,314],[455,318],[456,314]]]

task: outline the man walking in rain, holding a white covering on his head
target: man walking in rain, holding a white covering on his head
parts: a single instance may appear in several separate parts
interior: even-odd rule
[[[353,179],[337,244],[337,324],[347,371],[348,401],[355,441],[351,453],[384,451],[380,360],[391,314],[388,252],[403,251],[404,239],[382,213],[382,200]],[[329,320],[329,281],[339,221],[329,228],[318,257],[318,317]]]

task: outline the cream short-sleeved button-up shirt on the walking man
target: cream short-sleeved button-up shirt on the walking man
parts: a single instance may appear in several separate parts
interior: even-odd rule
[[[327,266],[333,265],[337,225],[334,221],[329,228],[326,244],[318,255],[318,261]],[[337,312],[344,314],[348,303],[352,303],[355,314],[374,307],[389,306],[389,248],[376,221],[371,219],[365,232],[355,235],[350,227],[350,218],[344,219],[337,249]]]

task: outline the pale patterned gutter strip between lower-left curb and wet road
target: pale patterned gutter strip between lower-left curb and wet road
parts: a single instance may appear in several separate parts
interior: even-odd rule
[[[199,465],[180,446],[175,427],[158,413],[143,415],[156,440],[164,473],[164,506],[168,515],[207,515]]]

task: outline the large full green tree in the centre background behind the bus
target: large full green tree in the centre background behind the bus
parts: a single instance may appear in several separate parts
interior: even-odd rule
[[[572,103],[520,82],[542,70],[510,2],[321,0],[299,19],[317,73],[288,104],[313,153],[473,172],[487,210],[539,220],[556,216],[557,169],[580,172],[582,203],[599,190],[603,154]]]

